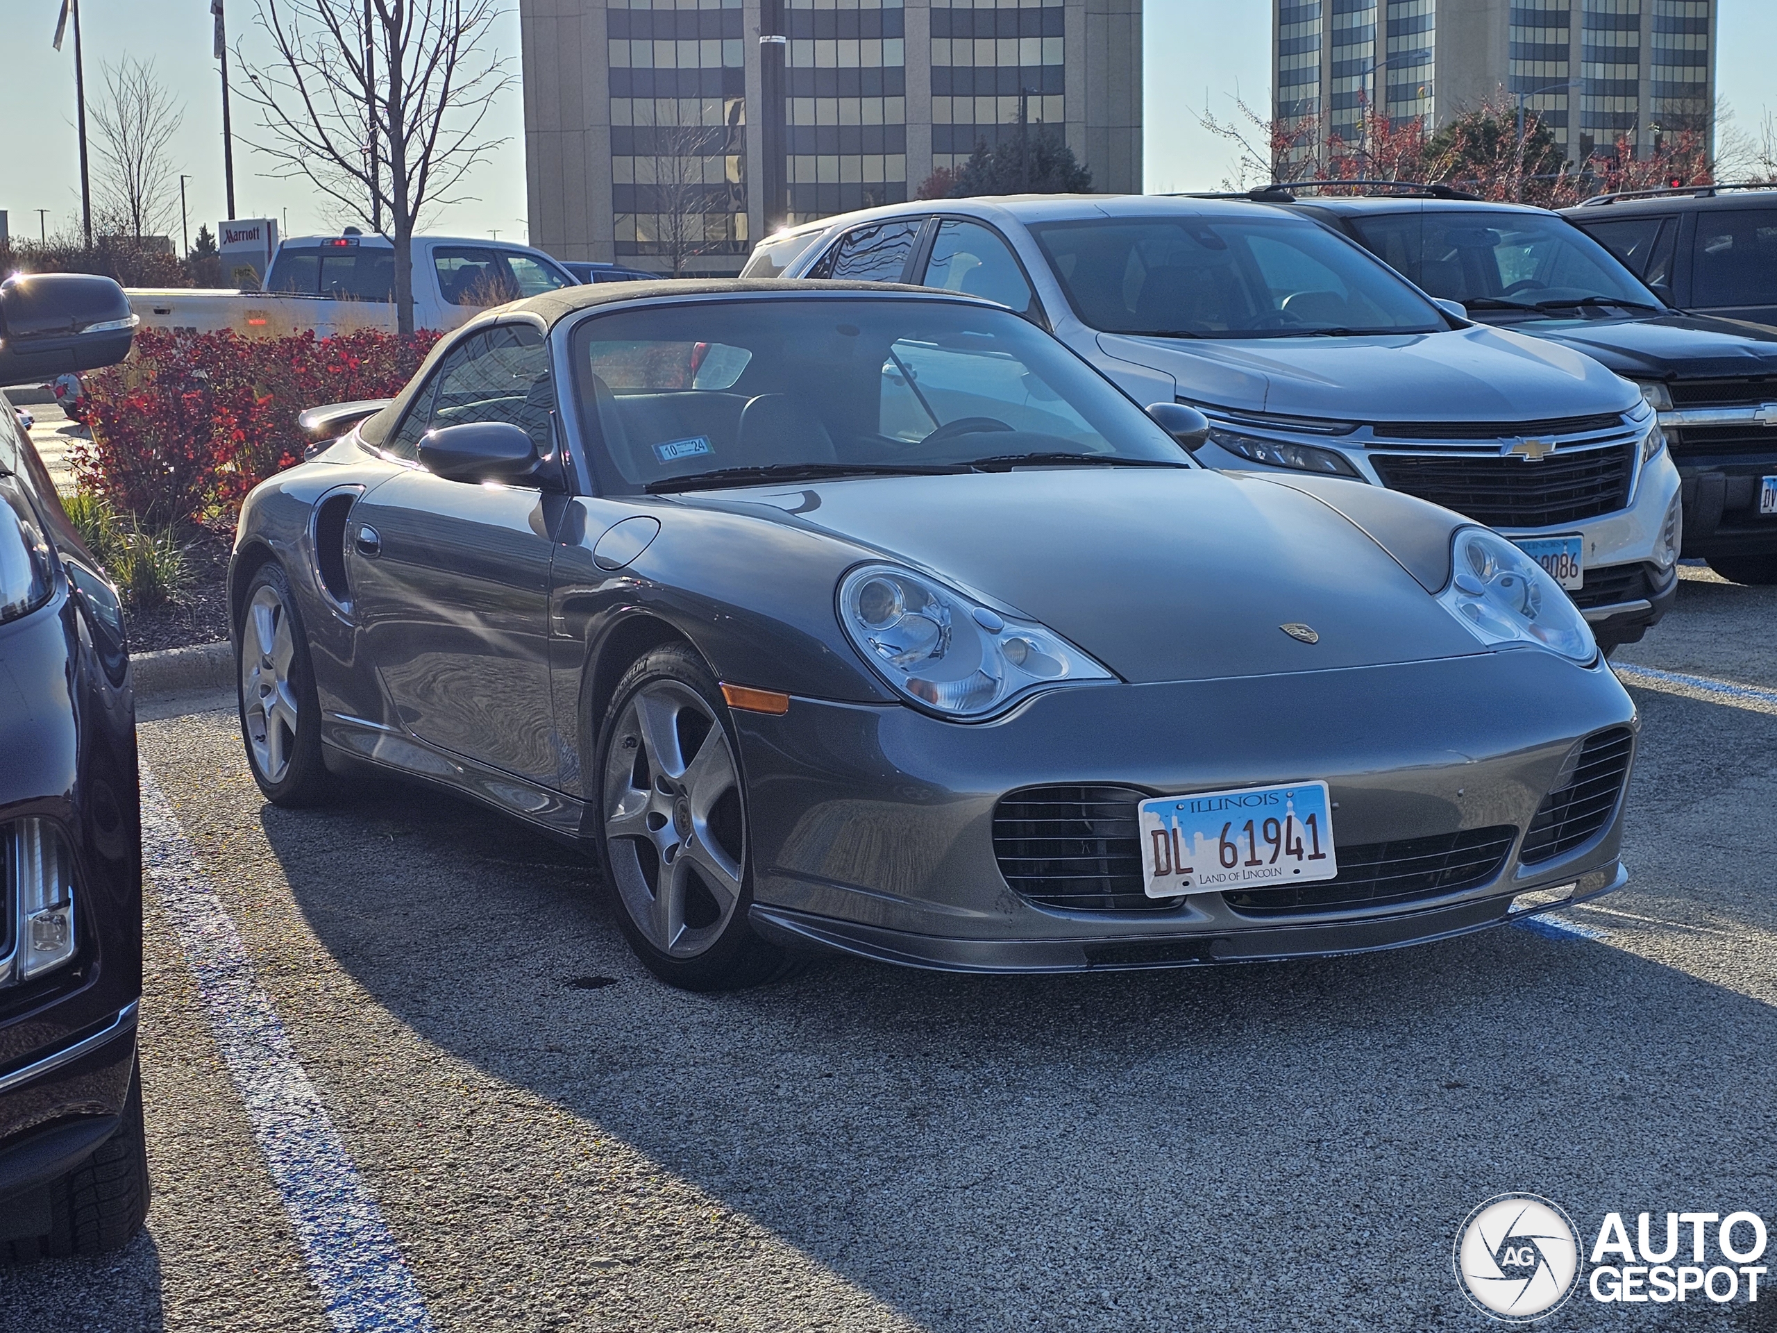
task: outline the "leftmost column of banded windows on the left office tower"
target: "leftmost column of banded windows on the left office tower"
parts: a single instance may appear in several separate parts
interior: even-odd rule
[[[741,0],[611,0],[617,256],[746,254]]]

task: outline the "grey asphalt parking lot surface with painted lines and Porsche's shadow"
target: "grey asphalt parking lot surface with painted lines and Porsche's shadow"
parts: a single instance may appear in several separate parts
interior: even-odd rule
[[[1630,887],[1315,963],[686,995],[572,853],[394,784],[274,809],[231,698],[144,707],[155,1203],[0,1271],[0,1328],[1471,1329],[1491,1194],[1770,1217],[1777,588],[1685,576],[1619,654]]]

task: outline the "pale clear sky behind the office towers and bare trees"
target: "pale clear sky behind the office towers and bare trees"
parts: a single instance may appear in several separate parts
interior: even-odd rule
[[[252,36],[251,0],[227,0],[236,34]],[[1757,130],[1766,108],[1777,112],[1770,52],[1777,50],[1777,4],[1772,0],[1718,0],[1722,98],[1745,130]],[[78,213],[78,169],[73,130],[73,43],[50,50],[59,0],[0,0],[0,208],[9,210],[14,235],[37,231],[37,208],[50,210],[50,229],[66,227]],[[123,52],[153,59],[162,76],[185,98],[179,169],[188,183],[192,231],[222,217],[222,117],[215,62],[210,59],[208,0],[84,0],[87,75]],[[1207,105],[1217,116],[1233,112],[1239,92],[1265,108],[1271,100],[1267,0],[1146,0],[1146,180],[1150,190],[1215,188],[1228,174],[1231,153],[1205,135],[1196,114]],[[519,21],[514,4],[498,30],[498,48],[517,55]],[[471,203],[444,212],[437,227],[460,235],[524,233],[522,110],[517,91],[498,107],[505,151],[473,180]],[[243,142],[254,133],[254,116],[235,103],[235,194],[242,217],[290,213],[293,231],[323,226],[311,192],[297,183],[267,180],[265,162]],[[174,226],[178,220],[174,219]]]

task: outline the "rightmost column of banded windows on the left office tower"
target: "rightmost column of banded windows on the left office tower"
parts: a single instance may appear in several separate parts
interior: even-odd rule
[[[1020,101],[1063,133],[1063,20],[1061,0],[931,0],[933,171],[1015,140]]]

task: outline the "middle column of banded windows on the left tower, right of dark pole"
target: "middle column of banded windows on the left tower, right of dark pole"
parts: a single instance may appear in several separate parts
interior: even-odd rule
[[[906,199],[901,0],[785,0],[789,220]]]

